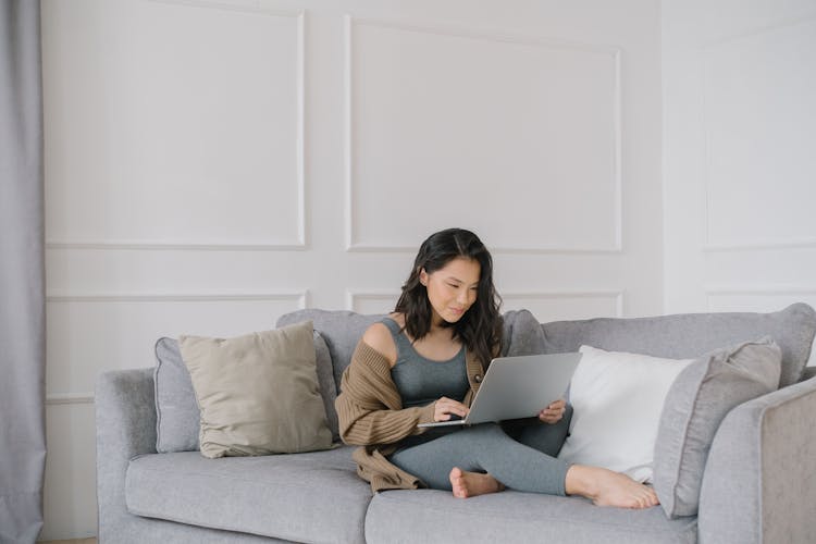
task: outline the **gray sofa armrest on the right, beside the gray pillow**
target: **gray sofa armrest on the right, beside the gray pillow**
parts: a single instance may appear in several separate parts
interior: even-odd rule
[[[816,534],[816,379],[722,420],[700,495],[698,542],[808,542]]]

